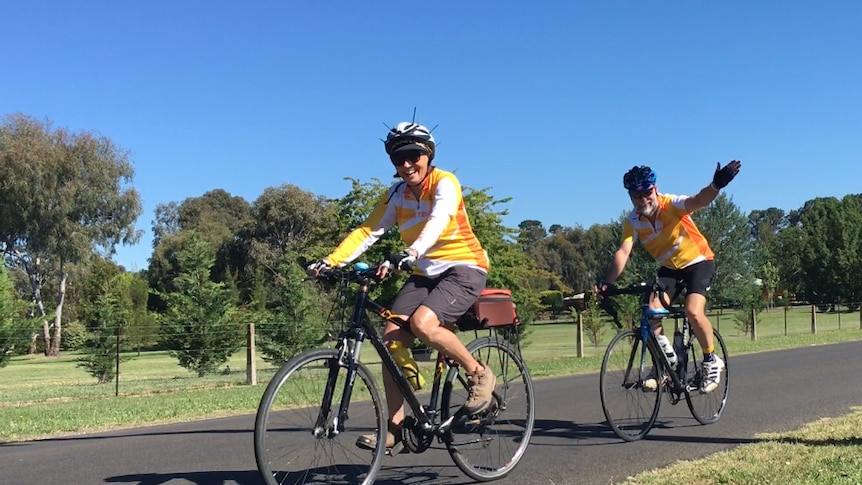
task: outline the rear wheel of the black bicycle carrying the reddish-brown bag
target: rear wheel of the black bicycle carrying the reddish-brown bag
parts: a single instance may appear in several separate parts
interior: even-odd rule
[[[467,378],[463,369],[449,369],[443,387],[443,422],[454,416],[446,433],[452,460],[477,481],[497,480],[518,464],[530,443],[536,408],[533,381],[521,355],[505,340],[483,337],[467,345],[497,377],[494,402],[473,416],[460,412],[467,401]]]

